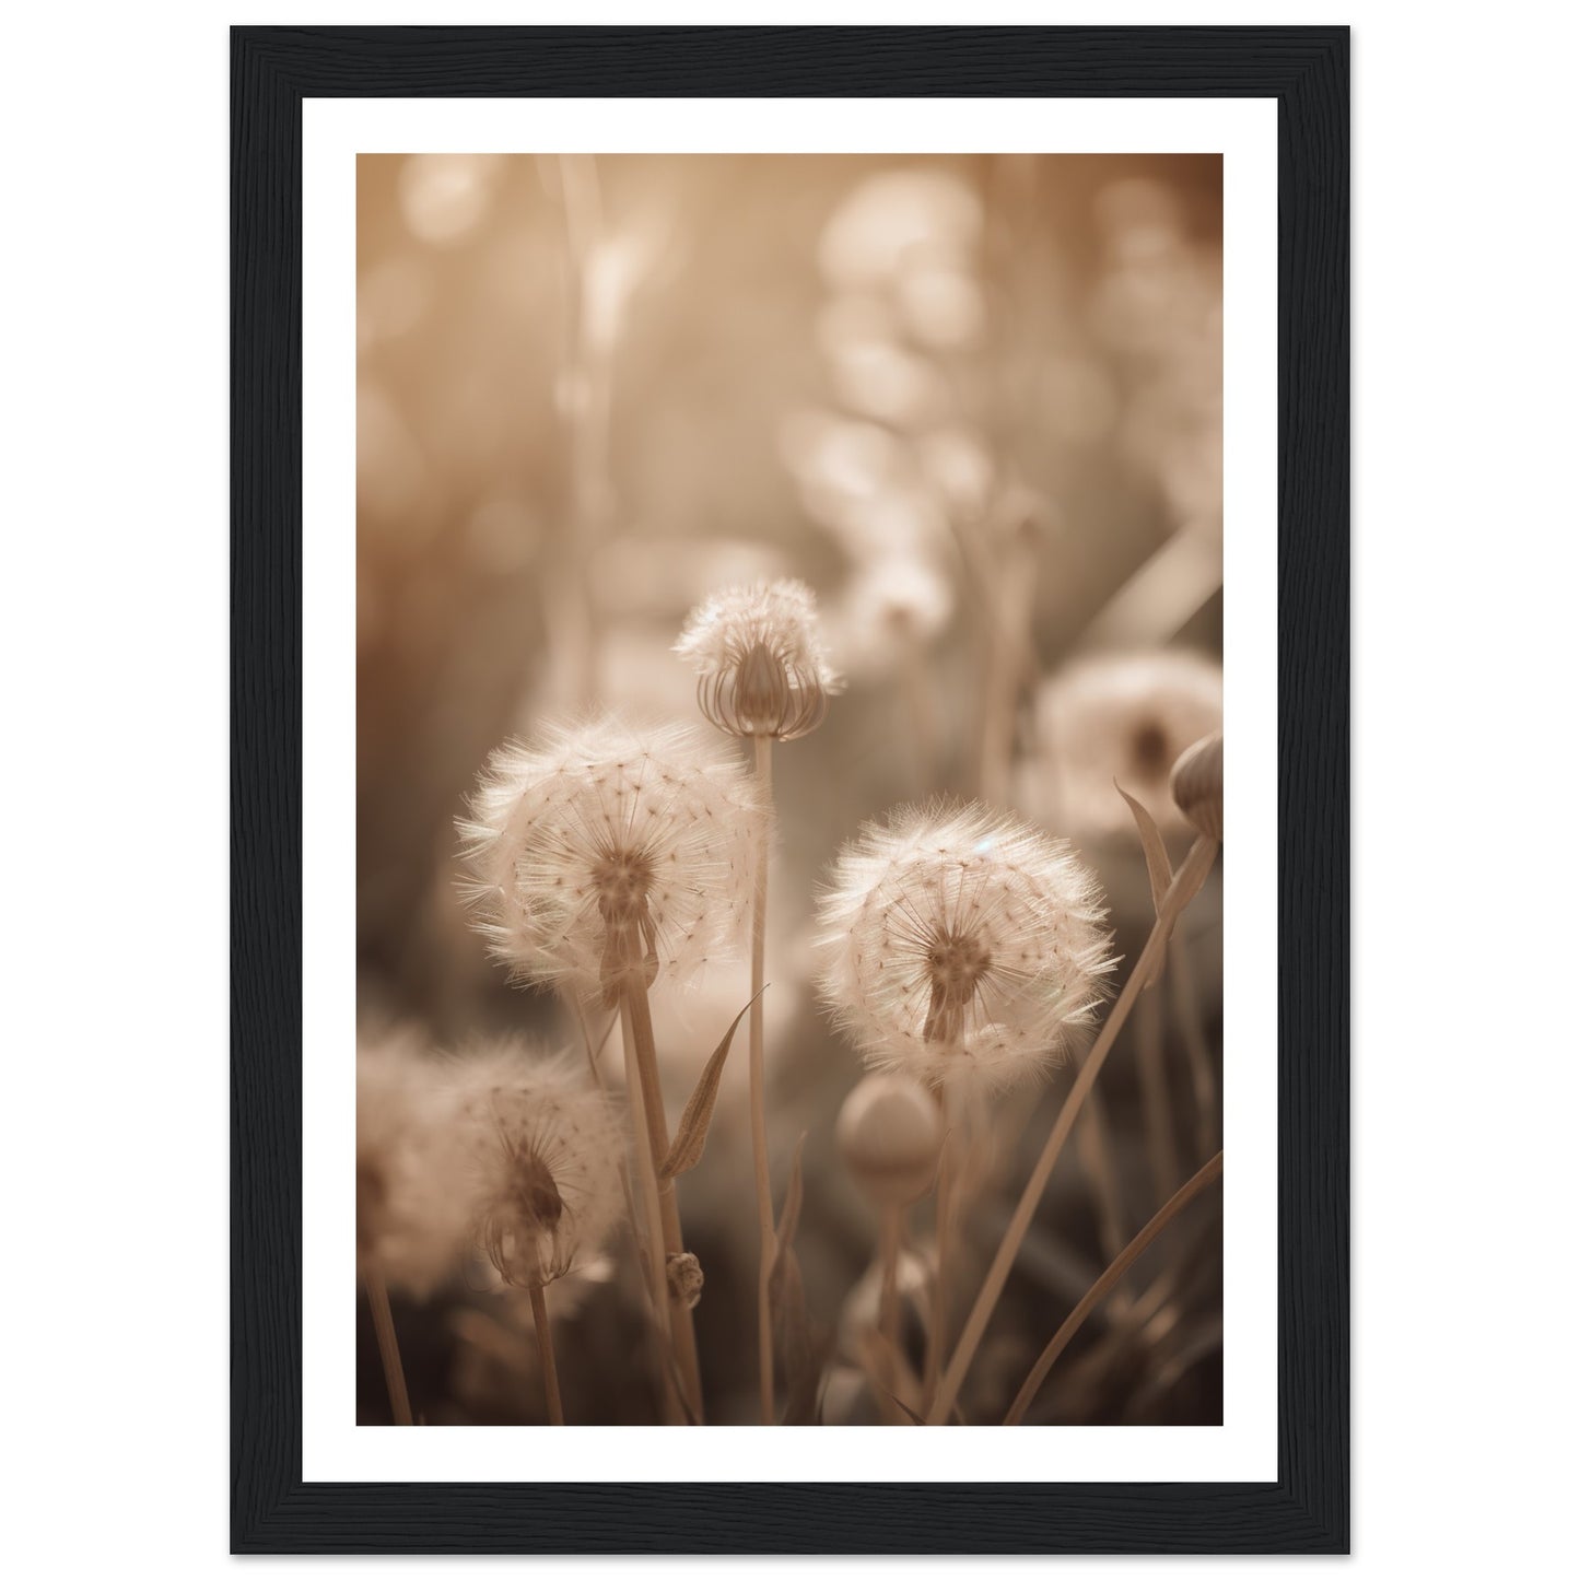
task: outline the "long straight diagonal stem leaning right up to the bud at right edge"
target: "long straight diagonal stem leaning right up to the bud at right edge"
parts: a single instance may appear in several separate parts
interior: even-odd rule
[[[1016,1204],[1014,1215],[1010,1218],[1003,1240],[999,1243],[992,1266],[988,1269],[988,1277],[983,1280],[981,1291],[976,1296],[976,1304],[972,1307],[972,1313],[965,1319],[965,1329],[961,1334],[961,1340],[954,1346],[950,1365],[943,1373],[939,1397],[927,1409],[927,1425],[940,1425],[950,1419],[950,1411],[953,1409],[954,1400],[961,1392],[961,1382],[965,1381],[965,1371],[976,1356],[978,1345],[983,1341],[983,1334],[988,1330],[988,1322],[999,1304],[999,1296],[1003,1294],[1003,1286],[1010,1278],[1010,1269],[1014,1266],[1014,1258],[1021,1250],[1021,1243],[1025,1240],[1025,1231],[1032,1226],[1032,1217],[1036,1212],[1036,1204],[1043,1198],[1043,1191],[1048,1188],[1048,1180],[1054,1172],[1054,1164],[1059,1161],[1059,1153],[1070,1139],[1070,1131],[1074,1128],[1074,1122],[1081,1114],[1081,1104],[1085,1101],[1087,1092],[1090,1092],[1092,1085],[1097,1082],[1109,1051],[1119,1038],[1119,1033],[1123,1029],[1130,1011],[1134,1008],[1136,1000],[1141,997],[1142,983],[1152,978],[1152,972],[1157,967],[1158,959],[1168,948],[1169,932],[1172,931],[1176,920],[1202,883],[1206,883],[1207,874],[1212,871],[1212,864],[1217,860],[1218,841],[1202,834],[1198,837],[1196,844],[1191,845],[1190,855],[1185,856],[1179,872],[1174,874],[1174,882],[1169,885],[1168,893],[1163,896],[1163,902],[1158,905],[1158,920],[1153,923],[1152,935],[1147,939],[1146,948],[1141,951],[1141,957],[1136,961],[1130,978],[1125,981],[1125,988],[1115,1000],[1114,1008],[1103,1022],[1103,1030],[1098,1032],[1097,1041],[1092,1044],[1092,1051],[1081,1065],[1081,1073],[1070,1087],[1070,1095],[1065,1098],[1063,1108],[1059,1111],[1059,1119],[1054,1120],[1054,1128],[1049,1131],[1048,1141],[1043,1146],[1043,1153],[1036,1160],[1036,1168],[1032,1169],[1032,1177],[1025,1182],[1025,1190],[1021,1191],[1021,1199]]]

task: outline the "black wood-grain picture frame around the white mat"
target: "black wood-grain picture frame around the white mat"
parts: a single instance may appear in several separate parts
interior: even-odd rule
[[[302,1482],[302,100],[348,95],[1278,100],[1277,1482]],[[232,30],[234,1552],[1348,1550],[1348,183],[1346,28]]]

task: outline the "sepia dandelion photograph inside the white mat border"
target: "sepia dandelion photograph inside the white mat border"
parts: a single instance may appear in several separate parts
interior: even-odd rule
[[[1221,156],[356,185],[357,1424],[1221,1424]]]

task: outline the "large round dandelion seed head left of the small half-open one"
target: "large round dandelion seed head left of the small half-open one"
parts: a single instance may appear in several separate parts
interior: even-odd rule
[[[458,828],[474,926],[517,978],[600,992],[728,953],[765,818],[755,781],[687,725],[550,728],[488,760]]]

